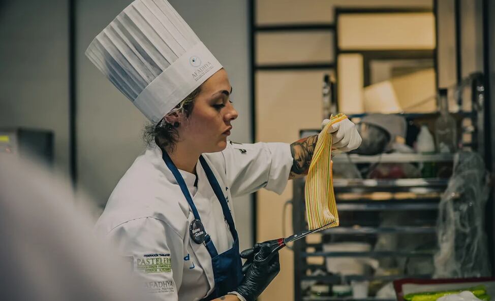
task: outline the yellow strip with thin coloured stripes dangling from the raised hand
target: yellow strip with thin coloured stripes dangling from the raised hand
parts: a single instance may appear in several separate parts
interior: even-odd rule
[[[346,119],[344,114],[330,118],[330,122],[318,135],[318,141],[311,160],[304,185],[306,202],[306,220],[309,230],[328,225],[330,228],[338,226],[337,205],[333,193],[332,183],[332,135],[328,128],[339,121]]]

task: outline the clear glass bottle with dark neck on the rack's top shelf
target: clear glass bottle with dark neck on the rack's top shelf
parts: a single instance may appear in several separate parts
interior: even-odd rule
[[[447,89],[439,90],[440,116],[435,121],[435,141],[439,153],[453,153],[457,149],[457,124],[449,113]]]

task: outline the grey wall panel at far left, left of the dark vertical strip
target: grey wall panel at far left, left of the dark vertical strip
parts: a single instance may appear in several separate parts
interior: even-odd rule
[[[0,128],[54,132],[54,163],[69,175],[66,0],[0,1]]]

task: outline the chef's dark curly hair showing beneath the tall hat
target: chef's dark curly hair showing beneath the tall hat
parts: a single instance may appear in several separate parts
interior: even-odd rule
[[[184,114],[186,118],[191,116],[194,108],[194,101],[201,92],[201,86],[197,87],[191,94],[185,97],[175,108],[167,115],[174,113]],[[168,123],[165,117],[157,124],[147,124],[143,131],[143,139],[148,147],[157,145],[163,150],[174,151],[175,143],[179,138],[177,128],[172,123]]]

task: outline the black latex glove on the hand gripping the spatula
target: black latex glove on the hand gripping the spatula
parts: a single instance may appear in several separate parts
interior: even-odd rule
[[[235,290],[246,301],[254,301],[265,290],[270,282],[280,272],[279,252],[271,253],[272,243],[256,244],[252,249],[242,251],[241,257],[247,258],[249,266],[245,270],[244,279]]]

